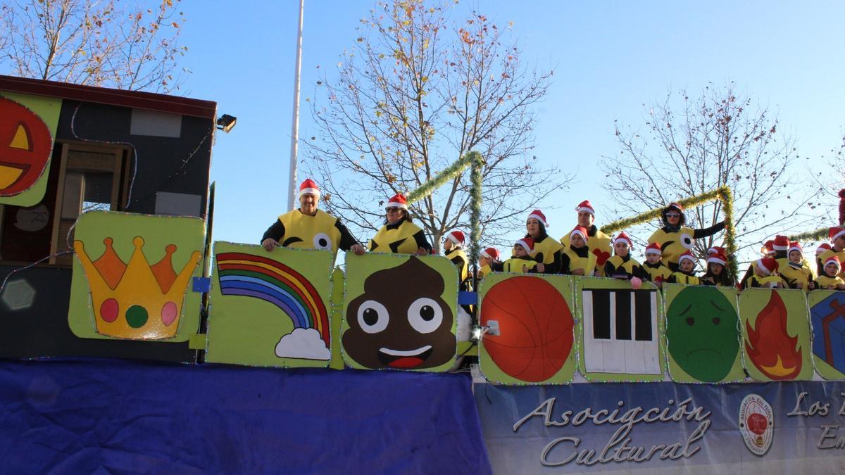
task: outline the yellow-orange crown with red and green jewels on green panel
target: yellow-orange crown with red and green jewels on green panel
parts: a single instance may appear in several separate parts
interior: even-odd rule
[[[165,256],[149,265],[144,238],[132,240],[135,250],[129,264],[117,256],[112,238],[103,239],[106,250],[91,261],[85,244],[74,241],[74,251],[85,270],[97,332],[133,340],[159,340],[176,335],[188,281],[202,254],[194,251],[177,275],[172,256],[175,244],[168,244]]]

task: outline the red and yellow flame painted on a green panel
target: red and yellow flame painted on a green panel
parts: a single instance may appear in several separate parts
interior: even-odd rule
[[[777,292],[771,292],[755,321],[756,328],[751,328],[745,321],[748,340],[745,352],[751,363],[771,379],[794,379],[801,372],[801,348],[798,336],[789,336],[787,332],[787,308]]]

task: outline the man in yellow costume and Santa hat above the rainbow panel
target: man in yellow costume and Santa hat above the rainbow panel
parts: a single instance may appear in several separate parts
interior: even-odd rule
[[[319,187],[311,178],[299,186],[299,208],[279,216],[261,237],[268,252],[273,248],[337,249],[364,254],[364,247],[341,224],[341,221],[318,210]]]

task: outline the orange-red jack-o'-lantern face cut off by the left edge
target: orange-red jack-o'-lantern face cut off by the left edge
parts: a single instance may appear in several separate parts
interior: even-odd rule
[[[47,165],[52,136],[34,112],[0,97],[0,196],[32,187]]]

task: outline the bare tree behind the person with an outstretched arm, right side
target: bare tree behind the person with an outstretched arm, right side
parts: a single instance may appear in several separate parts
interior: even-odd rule
[[[618,216],[728,185],[740,254],[750,256],[774,234],[815,228],[818,189],[806,187],[793,139],[777,131],[776,116],[739,96],[733,83],[707,85],[696,97],[681,90],[679,99],[674,106],[670,92],[650,106],[646,134],[616,126],[619,155],[603,157],[601,166]],[[722,203],[685,215],[689,225],[708,227],[722,221]],[[651,232],[641,231],[640,238]],[[699,240],[698,254],[713,240]]]

